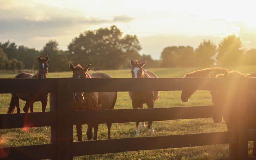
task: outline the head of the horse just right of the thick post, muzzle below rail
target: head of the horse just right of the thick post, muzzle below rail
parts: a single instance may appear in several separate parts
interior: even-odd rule
[[[69,68],[71,71],[73,71],[73,78],[90,78],[87,71],[89,70],[91,66],[91,63],[89,63],[85,68],[83,68],[80,64],[74,67],[74,65],[70,62]],[[82,104],[84,101],[84,93],[83,92],[77,92],[74,93],[74,100],[77,104]]]

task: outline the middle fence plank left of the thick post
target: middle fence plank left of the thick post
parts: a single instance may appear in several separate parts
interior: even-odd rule
[[[0,114],[0,129],[53,126],[56,112]]]

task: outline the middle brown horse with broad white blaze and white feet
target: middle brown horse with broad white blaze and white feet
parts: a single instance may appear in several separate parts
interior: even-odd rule
[[[133,61],[131,59],[130,64],[131,68],[131,75],[132,78],[158,78],[156,74],[151,71],[144,70],[142,67],[146,64],[146,61],[141,63],[138,60]],[[132,100],[132,107],[134,109],[143,108],[143,104],[146,103],[148,108],[153,108],[155,104],[155,100],[159,98],[159,91],[132,91],[129,92],[129,96]],[[139,122],[136,122],[136,136],[139,135]],[[145,123],[142,122],[142,129],[145,128]],[[148,129],[153,134],[154,129],[152,126],[152,121],[148,121]]]

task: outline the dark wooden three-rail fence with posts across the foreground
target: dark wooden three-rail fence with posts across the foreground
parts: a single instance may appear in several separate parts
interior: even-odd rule
[[[238,128],[233,131],[82,142],[73,142],[73,125],[77,123],[209,118],[220,113],[215,110],[214,106],[72,110],[73,92],[211,90],[231,89],[233,86],[256,89],[254,84],[256,84],[256,78],[0,79],[0,93],[51,93],[50,112],[0,114],[0,129],[22,128],[24,124],[27,124],[25,127],[51,126],[51,143],[0,149],[1,152],[7,153],[3,159],[62,160],[90,154],[229,144],[229,158],[226,159],[256,159],[248,157],[248,141],[256,139],[256,129],[248,129],[246,125],[243,125],[245,115],[255,116],[253,114],[255,113],[254,104],[250,105],[250,110],[242,112],[244,114],[241,114],[241,111],[222,113],[222,115],[232,114],[240,117]],[[97,119],[92,118],[96,116]]]

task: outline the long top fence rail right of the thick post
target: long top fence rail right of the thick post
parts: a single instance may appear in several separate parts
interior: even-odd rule
[[[68,78],[70,92],[256,89],[256,78]],[[243,85],[241,85],[243,84]],[[245,85],[246,84],[246,85]]]

